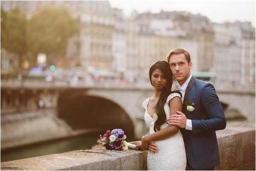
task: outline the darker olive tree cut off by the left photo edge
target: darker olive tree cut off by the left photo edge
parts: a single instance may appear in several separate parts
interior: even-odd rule
[[[19,9],[12,9],[9,12],[1,9],[1,46],[17,55],[19,67],[28,51],[26,24],[26,15]]]

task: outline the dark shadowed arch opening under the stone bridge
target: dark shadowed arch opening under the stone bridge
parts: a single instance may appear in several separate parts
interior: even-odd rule
[[[122,128],[126,136],[134,137],[134,123],[128,113],[110,99],[81,92],[61,93],[57,102],[58,117],[74,130]]]

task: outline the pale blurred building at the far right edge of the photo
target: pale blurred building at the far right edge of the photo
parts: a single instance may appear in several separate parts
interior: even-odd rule
[[[251,23],[215,23],[214,70],[221,84],[255,85],[255,28]]]

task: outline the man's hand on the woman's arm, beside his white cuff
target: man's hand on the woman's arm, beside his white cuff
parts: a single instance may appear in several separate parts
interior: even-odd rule
[[[186,128],[186,116],[184,113],[177,111],[177,114],[173,114],[168,117],[167,122],[169,122],[170,125],[176,125],[180,128]]]

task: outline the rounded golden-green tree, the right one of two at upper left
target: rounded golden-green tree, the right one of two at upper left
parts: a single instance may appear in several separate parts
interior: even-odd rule
[[[79,31],[79,21],[66,8],[45,7],[29,20],[29,49],[34,56],[65,54],[69,38]]]

